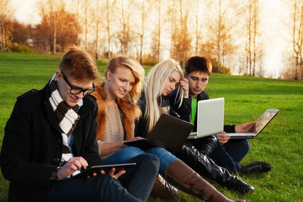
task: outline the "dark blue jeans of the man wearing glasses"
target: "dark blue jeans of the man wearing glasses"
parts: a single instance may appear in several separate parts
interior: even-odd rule
[[[127,163],[136,163],[117,179],[99,174],[89,179],[59,181],[46,201],[146,201],[159,172],[155,155],[141,154]]]

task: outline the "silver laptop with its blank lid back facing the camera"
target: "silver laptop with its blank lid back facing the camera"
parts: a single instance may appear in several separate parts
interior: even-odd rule
[[[223,132],[224,98],[200,100],[197,103],[197,132],[187,139],[195,139]]]

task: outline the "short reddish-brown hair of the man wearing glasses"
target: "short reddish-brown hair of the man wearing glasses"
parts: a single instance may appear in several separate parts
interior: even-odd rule
[[[68,52],[61,58],[59,69],[62,71],[69,70],[70,76],[77,81],[94,81],[100,77],[97,65],[92,57],[76,46],[68,48]]]

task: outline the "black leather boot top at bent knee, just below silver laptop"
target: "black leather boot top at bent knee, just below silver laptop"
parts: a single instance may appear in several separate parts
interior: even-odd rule
[[[201,154],[204,156],[212,156],[215,149],[217,148],[218,139],[214,135],[210,135],[203,138],[187,140],[193,145]]]

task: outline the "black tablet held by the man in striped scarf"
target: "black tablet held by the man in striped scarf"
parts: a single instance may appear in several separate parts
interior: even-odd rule
[[[92,176],[93,173],[99,174],[100,171],[104,171],[105,173],[108,173],[112,168],[115,168],[115,174],[119,171],[125,170],[131,166],[135,166],[136,163],[131,164],[113,164],[113,165],[102,165],[102,166],[91,166],[83,171],[81,171],[79,174],[72,176],[71,179],[83,179],[87,178],[87,176]]]

